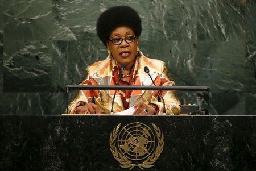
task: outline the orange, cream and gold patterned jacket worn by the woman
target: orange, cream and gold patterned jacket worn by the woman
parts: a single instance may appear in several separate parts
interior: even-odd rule
[[[116,65],[115,60],[111,56],[108,56],[105,60],[89,65],[86,70],[86,78],[80,85],[115,85],[112,72]],[[150,59],[144,56],[141,52],[135,63],[133,85],[153,85],[148,74],[144,72],[144,66],[147,66],[150,69],[150,74],[156,86],[175,85],[174,80],[168,73],[168,69],[163,61]],[[162,91],[161,94],[166,103],[167,114],[180,114],[180,101],[176,91]],[[68,106],[68,113],[75,114],[77,106],[93,102],[104,111],[104,114],[110,114],[113,95],[114,90],[79,90]],[[158,114],[163,114],[163,103],[160,102],[158,91],[133,90],[129,101],[129,107],[132,107],[139,102],[155,104],[159,108]],[[123,107],[122,99],[119,91],[117,91],[114,102],[114,112],[123,110],[125,109]]]

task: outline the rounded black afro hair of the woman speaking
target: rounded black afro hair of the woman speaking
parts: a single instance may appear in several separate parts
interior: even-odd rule
[[[138,13],[129,6],[115,6],[99,16],[97,21],[98,37],[106,45],[111,32],[121,26],[131,28],[135,36],[139,37],[141,35],[141,18],[139,18]]]

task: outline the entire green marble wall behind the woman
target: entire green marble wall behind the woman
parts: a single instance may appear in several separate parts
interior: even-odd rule
[[[138,11],[139,47],[176,85],[210,86],[211,114],[256,114],[254,0],[0,0],[1,113],[63,113],[65,85],[106,57],[96,20],[116,5]],[[179,95],[205,106],[205,94]]]

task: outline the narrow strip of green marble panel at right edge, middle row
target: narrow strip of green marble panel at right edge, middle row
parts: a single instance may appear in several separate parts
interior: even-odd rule
[[[256,93],[256,42],[246,42],[245,92]]]

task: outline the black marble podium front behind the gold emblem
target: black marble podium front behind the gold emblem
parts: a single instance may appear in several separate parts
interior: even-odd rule
[[[154,124],[164,136],[160,156],[144,170],[256,168],[256,116],[1,115],[0,120],[1,170],[129,170],[115,159],[110,137],[119,124],[121,132],[135,123],[153,133]],[[115,140],[118,144],[118,137]],[[162,148],[157,135],[155,140],[155,147]],[[134,142],[129,141],[130,146],[138,144]]]

